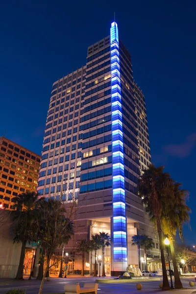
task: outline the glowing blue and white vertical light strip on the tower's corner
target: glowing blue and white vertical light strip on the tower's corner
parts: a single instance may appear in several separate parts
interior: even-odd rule
[[[123,118],[121,104],[121,75],[119,33],[117,23],[110,29],[111,91],[112,91],[112,175],[113,175],[113,240],[114,262],[127,262],[127,233],[125,217]]]

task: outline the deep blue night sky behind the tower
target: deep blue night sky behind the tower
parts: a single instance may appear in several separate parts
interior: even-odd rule
[[[0,135],[41,154],[52,83],[85,64],[114,11],[146,97],[152,162],[190,191],[184,236],[196,245],[196,1],[2,1]]]

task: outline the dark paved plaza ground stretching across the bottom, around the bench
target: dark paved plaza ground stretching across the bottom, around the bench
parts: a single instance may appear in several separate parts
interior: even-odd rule
[[[51,278],[49,282],[45,282],[43,288],[43,294],[55,294],[55,293],[64,293],[64,285],[66,283],[79,283],[80,286],[83,286],[84,282],[95,282],[95,277],[69,277],[65,278]],[[184,290],[171,290],[166,291],[167,293],[174,292],[176,294],[183,293],[194,293],[196,294],[196,283],[194,287],[189,286],[190,281],[195,281],[194,277],[182,278]],[[98,284],[98,294],[138,294],[138,293],[162,293],[162,290],[159,289],[160,281],[146,281],[141,282],[143,289],[139,292],[136,290],[136,282],[131,283],[121,283],[121,284]],[[38,294],[39,292],[40,281],[35,279],[25,281],[16,281],[13,279],[0,279],[0,294],[6,293],[6,291],[17,288],[25,289],[26,294]],[[164,292],[165,293],[165,292]]]

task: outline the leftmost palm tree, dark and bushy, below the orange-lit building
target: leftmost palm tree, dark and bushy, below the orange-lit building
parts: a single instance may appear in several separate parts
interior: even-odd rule
[[[16,202],[17,210],[12,212],[12,220],[15,222],[14,226],[14,242],[22,242],[21,256],[18,271],[15,279],[23,280],[23,263],[25,259],[25,246],[27,242],[36,241],[36,230],[34,226],[35,220],[35,203],[38,194],[35,192],[23,193],[13,200]]]

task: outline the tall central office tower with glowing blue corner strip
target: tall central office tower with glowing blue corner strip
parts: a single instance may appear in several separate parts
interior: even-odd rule
[[[137,196],[137,179],[150,161],[145,98],[114,22],[110,35],[88,48],[86,65],[56,81],[51,92],[38,192],[65,205],[78,198],[69,252],[80,240],[107,232],[112,244],[105,270],[118,275],[139,264],[131,236],[147,234],[156,253],[147,253],[148,268],[159,266],[154,228]]]

